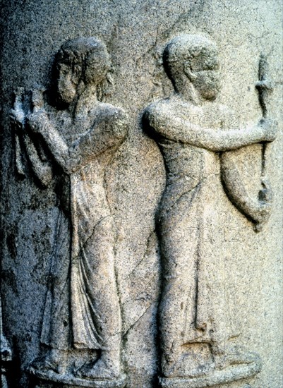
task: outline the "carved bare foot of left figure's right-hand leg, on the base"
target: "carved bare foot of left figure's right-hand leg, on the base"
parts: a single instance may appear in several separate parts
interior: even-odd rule
[[[113,359],[108,354],[102,353],[97,361],[83,365],[75,374],[89,379],[114,380],[120,375],[119,361],[116,357]]]

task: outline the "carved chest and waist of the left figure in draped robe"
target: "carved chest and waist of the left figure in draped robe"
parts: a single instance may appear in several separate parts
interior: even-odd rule
[[[97,104],[90,111],[81,111],[76,115],[75,119],[72,119],[68,112],[59,112],[52,121],[65,138],[68,147],[76,145],[80,138],[90,131],[99,131],[101,126],[104,126],[105,131],[109,131],[109,135],[115,138],[116,121],[113,120],[115,114],[121,114],[121,109],[114,108],[110,104]],[[120,124],[123,119],[120,120]],[[103,142],[104,140],[100,140]],[[96,147],[96,144],[88,144],[88,147],[80,152],[78,159],[78,165],[75,171],[70,175],[61,174],[59,178],[59,186],[61,195],[61,202],[64,210],[78,211],[82,207],[82,215],[84,212],[88,214],[88,217],[83,219],[95,219],[97,222],[99,219],[109,215],[109,209],[107,205],[106,193],[104,190],[104,174],[111,162],[114,154],[121,144],[120,140],[116,140],[115,144],[110,144],[106,150],[95,154],[91,152],[90,148]],[[76,202],[76,206],[74,203]],[[71,205],[73,204],[73,205]],[[92,209],[90,210],[90,204]],[[94,206],[95,204],[95,206]],[[70,206],[71,205],[71,209]],[[76,208],[76,210],[75,210]],[[95,212],[93,209],[95,208]],[[80,217],[81,219],[81,217]]]

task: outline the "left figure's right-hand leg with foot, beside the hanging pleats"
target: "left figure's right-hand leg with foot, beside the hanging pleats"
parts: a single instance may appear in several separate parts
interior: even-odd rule
[[[76,372],[80,377],[114,379],[119,377],[121,371],[121,316],[114,273],[113,229],[111,217],[102,219],[95,226],[80,257],[89,301],[88,316],[85,319],[92,320],[101,350],[98,360],[83,365]],[[76,344],[76,333],[74,341],[75,346],[79,347]]]

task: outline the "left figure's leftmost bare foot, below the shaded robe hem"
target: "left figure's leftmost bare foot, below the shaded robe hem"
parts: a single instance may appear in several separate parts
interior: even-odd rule
[[[64,372],[64,359],[61,352],[52,349],[44,358],[37,358],[30,365],[31,370],[39,370],[40,372],[49,372],[50,370],[56,373]]]

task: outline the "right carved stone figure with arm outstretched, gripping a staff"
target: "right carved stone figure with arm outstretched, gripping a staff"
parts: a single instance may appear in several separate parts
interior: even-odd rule
[[[270,214],[270,189],[263,178],[260,199],[248,197],[232,150],[271,142],[276,136],[276,124],[270,119],[261,119],[251,128],[223,128],[232,114],[215,101],[217,55],[216,44],[201,35],[171,40],[163,59],[174,94],[151,104],[144,114],[145,128],[157,141],[167,172],[157,214],[163,271],[159,303],[162,387],[207,387],[254,375],[261,368],[257,354],[227,347],[223,322],[213,316],[213,306],[204,308],[200,303],[203,214],[210,211],[214,181],[222,171],[231,200],[259,230]]]

